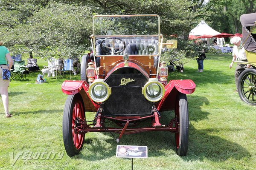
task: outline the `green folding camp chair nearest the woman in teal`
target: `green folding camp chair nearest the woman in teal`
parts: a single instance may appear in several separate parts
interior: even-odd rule
[[[11,80],[14,79],[15,81],[17,80],[26,80],[26,67],[25,67],[25,61],[14,61],[14,69],[11,69]],[[25,75],[25,79],[24,76]],[[17,78],[16,78],[17,76]]]

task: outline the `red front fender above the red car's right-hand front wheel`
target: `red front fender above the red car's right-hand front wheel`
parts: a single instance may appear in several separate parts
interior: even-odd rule
[[[169,111],[175,108],[177,93],[192,94],[195,91],[195,83],[191,79],[171,80],[165,86],[163,99],[158,103],[159,111]]]

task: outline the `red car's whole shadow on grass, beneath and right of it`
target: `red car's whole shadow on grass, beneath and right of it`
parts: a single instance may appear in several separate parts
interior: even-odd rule
[[[201,110],[202,105],[209,105],[206,97],[190,96],[192,105],[189,109],[189,119],[200,121],[208,119],[209,112]],[[174,117],[173,111],[161,113],[160,122],[166,125]],[[151,121],[149,121],[150,123]],[[150,124],[149,124],[150,125]],[[113,126],[111,126],[113,127]],[[241,145],[230,142],[219,136],[210,135],[218,133],[224,129],[210,128],[197,130],[192,124],[189,125],[189,150],[187,156],[181,157],[184,161],[209,159],[210,161],[225,161],[227,159],[240,160],[245,157],[251,157],[250,153]],[[227,131],[234,129],[225,129]],[[89,138],[85,137],[84,148],[81,154],[75,156],[75,159],[85,159],[89,161],[99,161],[115,156],[117,145],[138,145],[148,146],[148,157],[175,155],[175,137],[174,133],[167,131],[150,131],[145,133],[136,133],[124,135],[120,143],[116,143],[113,135],[117,138],[118,133],[90,133]],[[88,135],[88,134],[87,134]],[[91,137],[92,136],[92,137]]]

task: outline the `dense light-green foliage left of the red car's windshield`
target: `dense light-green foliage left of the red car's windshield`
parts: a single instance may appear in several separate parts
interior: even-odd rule
[[[37,54],[50,52],[49,57],[72,57],[90,46],[89,7],[46,0],[23,0],[22,5],[18,2],[5,1],[1,8],[6,15],[1,17],[4,24],[0,35],[14,51],[15,45],[21,44],[26,47],[24,50]]]

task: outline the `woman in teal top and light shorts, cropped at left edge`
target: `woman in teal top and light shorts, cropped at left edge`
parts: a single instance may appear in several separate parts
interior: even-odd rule
[[[9,63],[7,66],[6,59]],[[8,49],[3,46],[3,42],[0,41],[0,94],[3,100],[3,107],[5,111],[6,117],[12,117],[9,113],[9,96],[8,96],[8,87],[10,84],[10,80],[2,79],[2,69],[11,69],[13,65],[12,57],[8,51]]]

